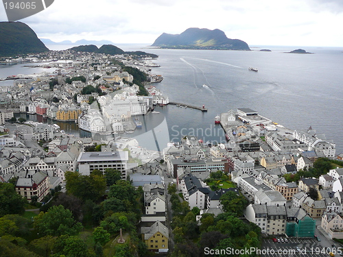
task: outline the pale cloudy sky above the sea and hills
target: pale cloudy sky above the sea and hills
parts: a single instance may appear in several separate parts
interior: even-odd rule
[[[7,21],[3,5],[0,19]],[[163,32],[201,27],[250,46],[343,47],[343,0],[55,0],[21,21],[56,42],[152,44]]]

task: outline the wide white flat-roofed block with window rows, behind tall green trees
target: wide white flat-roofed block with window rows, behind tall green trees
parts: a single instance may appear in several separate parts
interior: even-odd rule
[[[128,151],[86,151],[78,157],[79,173],[89,175],[95,169],[121,171],[121,179],[126,180]]]

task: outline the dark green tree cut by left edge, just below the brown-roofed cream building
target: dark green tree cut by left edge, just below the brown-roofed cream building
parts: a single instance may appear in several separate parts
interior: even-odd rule
[[[0,217],[8,214],[22,215],[27,199],[16,193],[11,183],[0,183]]]

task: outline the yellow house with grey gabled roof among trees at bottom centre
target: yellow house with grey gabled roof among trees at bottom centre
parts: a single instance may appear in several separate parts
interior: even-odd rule
[[[168,228],[160,221],[156,221],[151,227],[141,228],[141,233],[147,249],[154,252],[168,251]]]

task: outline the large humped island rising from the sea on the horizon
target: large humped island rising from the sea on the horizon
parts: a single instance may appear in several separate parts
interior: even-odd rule
[[[250,48],[246,42],[227,38],[220,29],[199,29],[192,27],[181,34],[163,33],[152,47],[166,49],[216,49],[216,50],[246,50]]]

